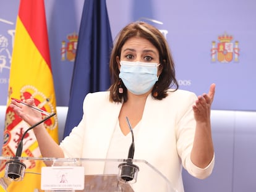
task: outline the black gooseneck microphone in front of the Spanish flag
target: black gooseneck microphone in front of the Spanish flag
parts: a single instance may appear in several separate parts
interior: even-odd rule
[[[6,162],[5,177],[9,177],[14,181],[18,181],[20,179],[20,177],[23,178],[24,172],[25,172],[25,169],[26,169],[26,165],[23,162],[20,162],[20,160],[19,160],[19,157],[21,157],[22,149],[23,149],[23,139],[24,139],[25,135],[27,134],[27,132],[29,130],[32,130],[32,128],[35,128],[36,126],[38,126],[41,123],[45,122],[46,120],[50,119],[54,115],[56,115],[56,114],[55,113],[50,114],[45,119],[42,119],[40,122],[35,123],[35,125],[32,125],[30,128],[28,128],[23,133],[22,138],[20,139],[20,143],[17,147],[15,157],[13,158],[14,160]]]

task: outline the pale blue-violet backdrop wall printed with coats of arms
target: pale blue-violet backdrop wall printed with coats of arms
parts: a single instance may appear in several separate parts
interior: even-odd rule
[[[83,2],[45,1],[58,106],[69,104]],[[113,40],[122,27],[138,19],[163,31],[181,89],[202,94],[214,82],[213,109],[256,110],[256,1],[106,0],[106,4]],[[0,105],[7,101],[18,7],[19,1],[0,1]]]

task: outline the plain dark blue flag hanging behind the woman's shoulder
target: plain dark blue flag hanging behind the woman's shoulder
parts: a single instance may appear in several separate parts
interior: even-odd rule
[[[85,0],[70,88],[64,137],[77,126],[83,115],[87,93],[108,90],[109,57],[113,46],[106,0]]]

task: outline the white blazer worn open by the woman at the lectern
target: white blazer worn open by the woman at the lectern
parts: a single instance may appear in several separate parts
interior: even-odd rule
[[[205,178],[213,170],[214,157],[205,169],[190,160],[195,133],[192,105],[197,96],[189,91],[171,92],[162,100],[147,98],[134,159],[147,161],[168,178],[177,191],[184,191],[182,165],[191,175]],[[109,102],[109,92],[89,93],[83,102],[83,118],[60,144],[65,157],[105,159],[121,103]],[[127,149],[126,149],[127,150]],[[104,165],[87,167],[101,172]]]

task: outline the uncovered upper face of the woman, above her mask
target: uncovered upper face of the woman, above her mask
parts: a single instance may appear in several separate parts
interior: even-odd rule
[[[117,64],[119,64],[120,70],[120,61],[129,61],[129,62],[148,62],[148,63],[157,63],[159,64],[159,52],[150,43],[150,41],[145,38],[132,37],[124,43],[121,49],[121,57],[116,57]],[[161,65],[160,65],[161,66]],[[161,74],[161,67],[158,67],[158,76]]]

